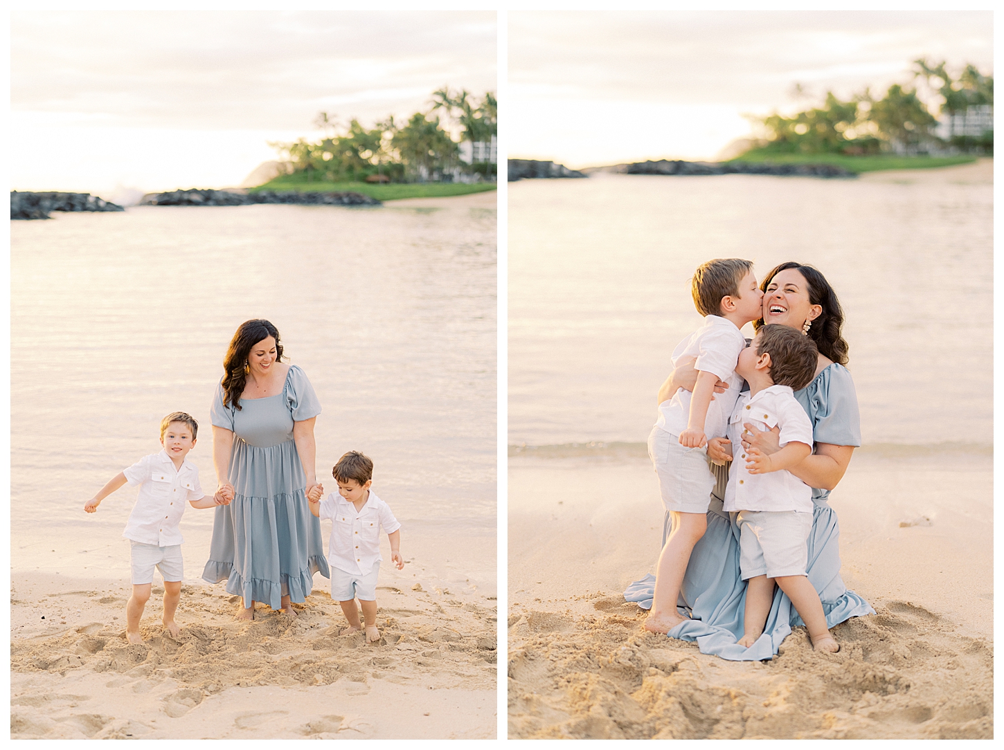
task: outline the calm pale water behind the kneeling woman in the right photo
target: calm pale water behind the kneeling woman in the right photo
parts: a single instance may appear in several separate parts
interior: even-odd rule
[[[712,258],[818,268],[844,310],[863,447],[986,455],[993,185],[607,174],[509,189],[510,453],[645,456]],[[752,333],[752,327],[748,329]]]

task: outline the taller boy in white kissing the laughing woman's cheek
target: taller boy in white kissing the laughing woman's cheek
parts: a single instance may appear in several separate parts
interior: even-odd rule
[[[746,347],[739,329],[763,314],[763,292],[749,261],[708,261],[694,272],[691,291],[704,325],[677,345],[673,366],[694,362],[697,384],[693,394],[681,388],[659,405],[659,421],[649,436],[660,494],[673,521],[659,555],[652,613],[645,622],[646,630],[654,633],[668,633],[684,621],[677,599],[691,551],[708,527],[715,485],[706,445],[709,437],[725,435],[739,396],[742,380],[733,371]],[[719,380],[728,389],[713,399]]]

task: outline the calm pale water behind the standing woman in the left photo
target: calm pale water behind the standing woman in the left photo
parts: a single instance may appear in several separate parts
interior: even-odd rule
[[[119,577],[136,488],[83,503],[161,449],[161,418],[200,422],[190,453],[215,488],[210,403],[236,327],[267,318],[320,399],[317,475],[369,455],[403,550],[483,537],[494,581],[496,212],[138,207],[11,226],[11,565]],[[189,507],[186,579],[212,510]],[[326,542],[325,542],[326,543]],[[446,557],[450,557],[449,552]],[[445,559],[445,558],[444,558]],[[466,570],[470,571],[468,567]]]

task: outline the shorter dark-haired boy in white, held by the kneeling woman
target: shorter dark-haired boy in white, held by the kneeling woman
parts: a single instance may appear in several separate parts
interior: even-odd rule
[[[781,325],[763,326],[739,355],[736,372],[749,383],[729,420],[729,441],[739,450],[725,490],[725,510],[739,511],[739,568],[747,581],[744,634],[749,648],[763,634],[776,583],[791,600],[818,651],[839,645],[826,627],[819,595],[805,575],[812,529],[812,490],[787,471],[812,452],[812,423],[793,391],[812,380],[818,362],[815,343]],[[743,426],[780,428],[780,450],[742,448]],[[719,441],[728,453],[728,441]]]

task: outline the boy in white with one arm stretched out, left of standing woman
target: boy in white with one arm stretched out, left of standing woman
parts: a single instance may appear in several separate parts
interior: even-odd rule
[[[181,628],[175,611],[182,591],[182,533],[178,529],[186,500],[192,507],[216,507],[233,499],[233,492],[221,489],[209,496],[199,484],[199,469],[185,456],[195,447],[199,423],[183,411],[175,411],[161,420],[161,445],[164,450],[141,458],[118,472],[84,504],[88,513],[97,510],[101,500],[127,482],[142,484],[140,496],[130,513],[122,536],[133,542],[133,596],[126,605],[126,638],[143,643],[140,620],[150,599],[154,569],[164,577],[164,627],[177,638]]]

